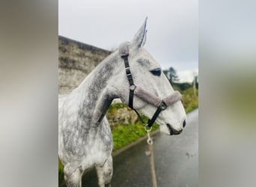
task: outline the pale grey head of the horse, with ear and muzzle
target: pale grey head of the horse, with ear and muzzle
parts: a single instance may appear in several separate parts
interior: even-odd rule
[[[143,47],[146,41],[146,24],[147,19],[135,34],[132,41],[127,43],[127,51],[129,49],[129,57],[127,59],[129,60],[129,70],[132,74],[132,81],[134,82],[134,85],[141,90],[141,93],[138,93],[137,95],[134,94],[132,108],[151,118],[155,114],[157,108],[156,105],[148,102],[147,99],[141,99],[143,96],[141,97],[139,95],[152,95],[151,97],[153,99],[156,98],[155,100],[158,100],[158,98],[164,99],[168,98],[168,96],[170,97],[175,91],[171,87],[171,84],[168,82],[164,73],[162,73],[160,65]],[[123,50],[124,53],[127,52],[126,49],[120,50]],[[120,61],[124,64],[122,58],[120,58]],[[125,104],[129,105],[129,86],[131,84],[129,84],[126,74],[126,69],[123,68],[123,76],[121,79],[124,80],[125,84],[121,85],[122,93],[120,94],[120,97]],[[120,80],[116,81],[119,82]],[[137,89],[138,92],[140,91],[139,89]],[[153,100],[152,98],[151,100]],[[165,132],[168,135],[180,134],[183,127],[186,125],[186,113],[180,99],[177,99],[177,101],[168,105],[165,110],[162,110],[156,118],[156,123],[159,124],[161,132]]]

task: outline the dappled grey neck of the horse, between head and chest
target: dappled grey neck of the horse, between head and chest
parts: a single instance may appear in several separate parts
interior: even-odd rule
[[[88,120],[91,126],[97,126],[103,120],[112,100],[118,97],[112,83],[118,76],[117,52],[109,55],[92,71],[77,88],[82,96],[82,118]]]

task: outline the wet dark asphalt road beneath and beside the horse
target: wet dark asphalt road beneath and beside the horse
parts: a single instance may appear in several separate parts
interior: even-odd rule
[[[198,186],[198,109],[187,114],[180,135],[153,135],[156,180],[158,187]],[[152,186],[146,141],[125,150],[114,160],[112,187]],[[97,186],[96,171],[84,175],[83,187]]]

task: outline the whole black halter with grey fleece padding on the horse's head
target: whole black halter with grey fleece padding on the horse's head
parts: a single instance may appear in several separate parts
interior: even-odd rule
[[[127,74],[127,79],[129,81],[129,108],[132,108],[136,114],[138,114],[138,111],[133,108],[133,96],[138,96],[140,99],[143,99],[144,101],[150,103],[151,105],[154,105],[157,107],[155,114],[153,114],[153,117],[148,120],[147,125],[148,127],[151,127],[153,123],[155,122],[156,118],[159,116],[161,111],[164,111],[169,105],[172,105],[174,102],[177,102],[181,99],[181,94],[178,91],[174,91],[170,96],[165,97],[164,99],[159,98],[158,96],[154,96],[151,93],[145,91],[144,89],[137,87],[134,85],[133,79],[132,79],[132,73],[129,69],[129,47],[128,42],[121,43],[119,46],[119,55],[121,58],[124,59],[124,66],[125,66],[125,72]],[[138,114],[138,117],[144,123],[144,120],[142,120],[141,116]]]

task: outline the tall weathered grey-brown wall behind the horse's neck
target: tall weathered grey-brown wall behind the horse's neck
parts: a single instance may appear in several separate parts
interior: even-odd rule
[[[70,93],[110,53],[107,50],[59,36],[58,93]]]

